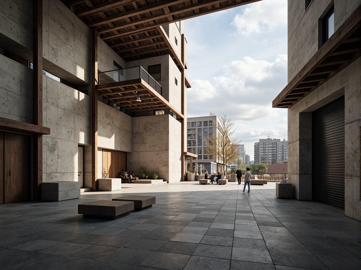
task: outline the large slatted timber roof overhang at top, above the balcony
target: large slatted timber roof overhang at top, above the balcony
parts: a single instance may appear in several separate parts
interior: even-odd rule
[[[171,55],[159,26],[260,0],[62,0],[125,61]]]

